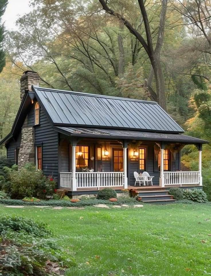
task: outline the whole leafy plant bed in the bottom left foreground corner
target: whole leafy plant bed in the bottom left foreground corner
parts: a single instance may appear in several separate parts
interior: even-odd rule
[[[23,217],[1,217],[0,233],[0,252],[4,252],[0,257],[3,275],[54,275],[48,269],[47,261],[50,261],[50,267],[54,263],[64,268],[75,265],[75,260],[49,237],[51,232],[44,223]]]

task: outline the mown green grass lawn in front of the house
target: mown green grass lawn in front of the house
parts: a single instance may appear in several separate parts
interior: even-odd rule
[[[78,263],[68,276],[211,275],[211,206],[0,212],[48,223]]]

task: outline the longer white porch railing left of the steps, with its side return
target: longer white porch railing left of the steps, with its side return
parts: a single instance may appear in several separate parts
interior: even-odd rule
[[[60,187],[71,188],[71,172],[60,172]],[[77,188],[124,186],[124,172],[77,172]]]

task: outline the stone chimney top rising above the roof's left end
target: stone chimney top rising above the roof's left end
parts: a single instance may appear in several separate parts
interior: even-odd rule
[[[21,101],[26,92],[32,92],[32,85],[39,86],[40,76],[34,71],[25,71],[20,79],[21,82]]]

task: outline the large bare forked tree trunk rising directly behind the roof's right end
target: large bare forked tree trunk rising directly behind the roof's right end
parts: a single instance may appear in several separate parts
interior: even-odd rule
[[[152,43],[152,35],[151,35],[151,29],[149,24],[149,18],[145,9],[144,1],[138,0],[138,4],[140,7],[140,12],[142,14],[144,27],[145,27],[145,36],[146,39],[136,30],[132,24],[124,18],[120,13],[116,12],[114,9],[111,9],[108,6],[107,0],[98,0],[103,9],[109,13],[112,16],[115,16],[118,18],[121,22],[124,23],[124,25],[128,28],[128,30],[139,40],[141,45],[143,46],[144,50],[146,51],[151,65],[153,67],[154,75],[155,75],[155,83],[156,83],[156,90],[157,93],[155,93],[151,86],[149,86],[150,93],[154,96],[154,98],[159,102],[161,107],[166,110],[166,97],[165,97],[165,81],[163,77],[163,71],[161,67],[161,61],[160,61],[160,50],[163,43],[163,34],[164,34],[164,23],[165,23],[165,16],[166,16],[166,9],[167,9],[167,1],[162,1],[162,10],[161,10],[161,16],[160,16],[160,26],[159,26],[159,35],[157,39],[157,44],[155,49],[153,48]],[[153,74],[150,74],[150,84],[152,81]],[[146,84],[148,86],[148,84]]]

